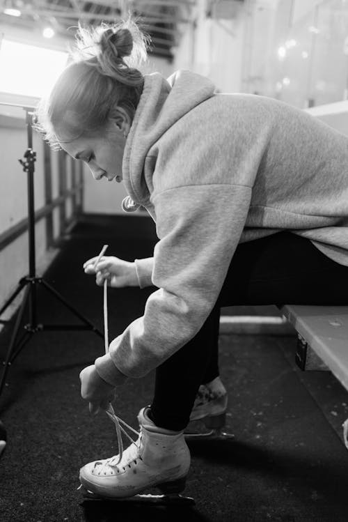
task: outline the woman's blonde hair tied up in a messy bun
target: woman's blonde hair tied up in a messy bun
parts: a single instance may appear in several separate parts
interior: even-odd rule
[[[130,18],[95,28],[79,25],[72,63],[35,112],[34,128],[52,148],[104,130],[116,105],[133,118],[143,91],[139,66],[146,60],[147,43]]]

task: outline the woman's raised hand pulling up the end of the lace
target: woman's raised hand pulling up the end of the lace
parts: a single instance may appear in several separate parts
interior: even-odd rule
[[[98,286],[103,286],[105,279],[107,279],[108,285],[114,288],[139,286],[135,263],[115,256],[102,256],[100,262],[95,266],[97,259],[97,256],[88,259],[84,263],[84,271],[86,274],[96,274],[95,282]]]

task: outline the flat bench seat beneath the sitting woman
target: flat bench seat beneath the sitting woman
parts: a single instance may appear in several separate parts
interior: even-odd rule
[[[348,390],[348,307],[286,305],[281,312]]]

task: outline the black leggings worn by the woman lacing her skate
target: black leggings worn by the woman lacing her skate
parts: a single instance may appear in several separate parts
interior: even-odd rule
[[[220,307],[234,305],[347,305],[348,267],[308,239],[280,232],[238,245],[214,309],[198,334],[156,369],[152,418],[182,430],[200,384],[219,375]]]

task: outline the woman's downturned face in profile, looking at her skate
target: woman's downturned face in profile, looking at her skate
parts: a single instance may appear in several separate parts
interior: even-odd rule
[[[122,119],[110,121],[100,136],[80,137],[60,145],[72,158],[86,162],[95,180],[106,178],[120,182],[129,128],[129,122]]]

